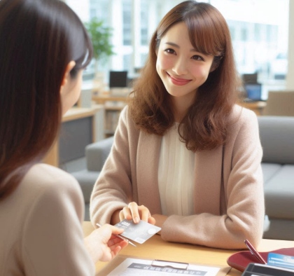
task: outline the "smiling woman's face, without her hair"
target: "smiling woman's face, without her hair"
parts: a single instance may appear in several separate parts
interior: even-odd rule
[[[195,50],[184,22],[171,27],[160,41],[156,69],[174,100],[193,102],[197,89],[209,76],[213,55]]]

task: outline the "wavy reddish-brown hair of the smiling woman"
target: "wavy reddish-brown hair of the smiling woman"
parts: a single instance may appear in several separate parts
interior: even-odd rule
[[[191,44],[199,52],[214,55],[207,81],[197,90],[195,102],[181,120],[179,134],[187,149],[215,149],[228,136],[228,116],[237,102],[239,77],[223,15],[206,3],[184,1],[161,20],[149,46],[149,55],[141,77],[129,99],[130,114],[137,126],[148,133],[164,135],[174,124],[169,93],[156,71],[156,50],[167,31],[179,22],[188,27]]]

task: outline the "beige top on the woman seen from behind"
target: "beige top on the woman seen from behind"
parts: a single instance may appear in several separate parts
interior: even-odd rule
[[[83,240],[84,206],[70,174],[45,164],[31,167],[0,200],[0,275],[94,275]]]

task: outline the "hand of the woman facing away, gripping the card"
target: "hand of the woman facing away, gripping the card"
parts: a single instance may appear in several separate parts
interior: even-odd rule
[[[111,261],[118,252],[127,246],[128,242],[112,234],[121,234],[123,229],[104,224],[85,237],[85,247],[94,263]]]

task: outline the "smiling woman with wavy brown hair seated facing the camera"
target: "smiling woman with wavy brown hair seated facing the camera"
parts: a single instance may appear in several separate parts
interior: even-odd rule
[[[223,15],[184,1],[161,20],[94,186],[92,223],[140,219],[163,240],[224,249],[262,238],[262,148]]]

